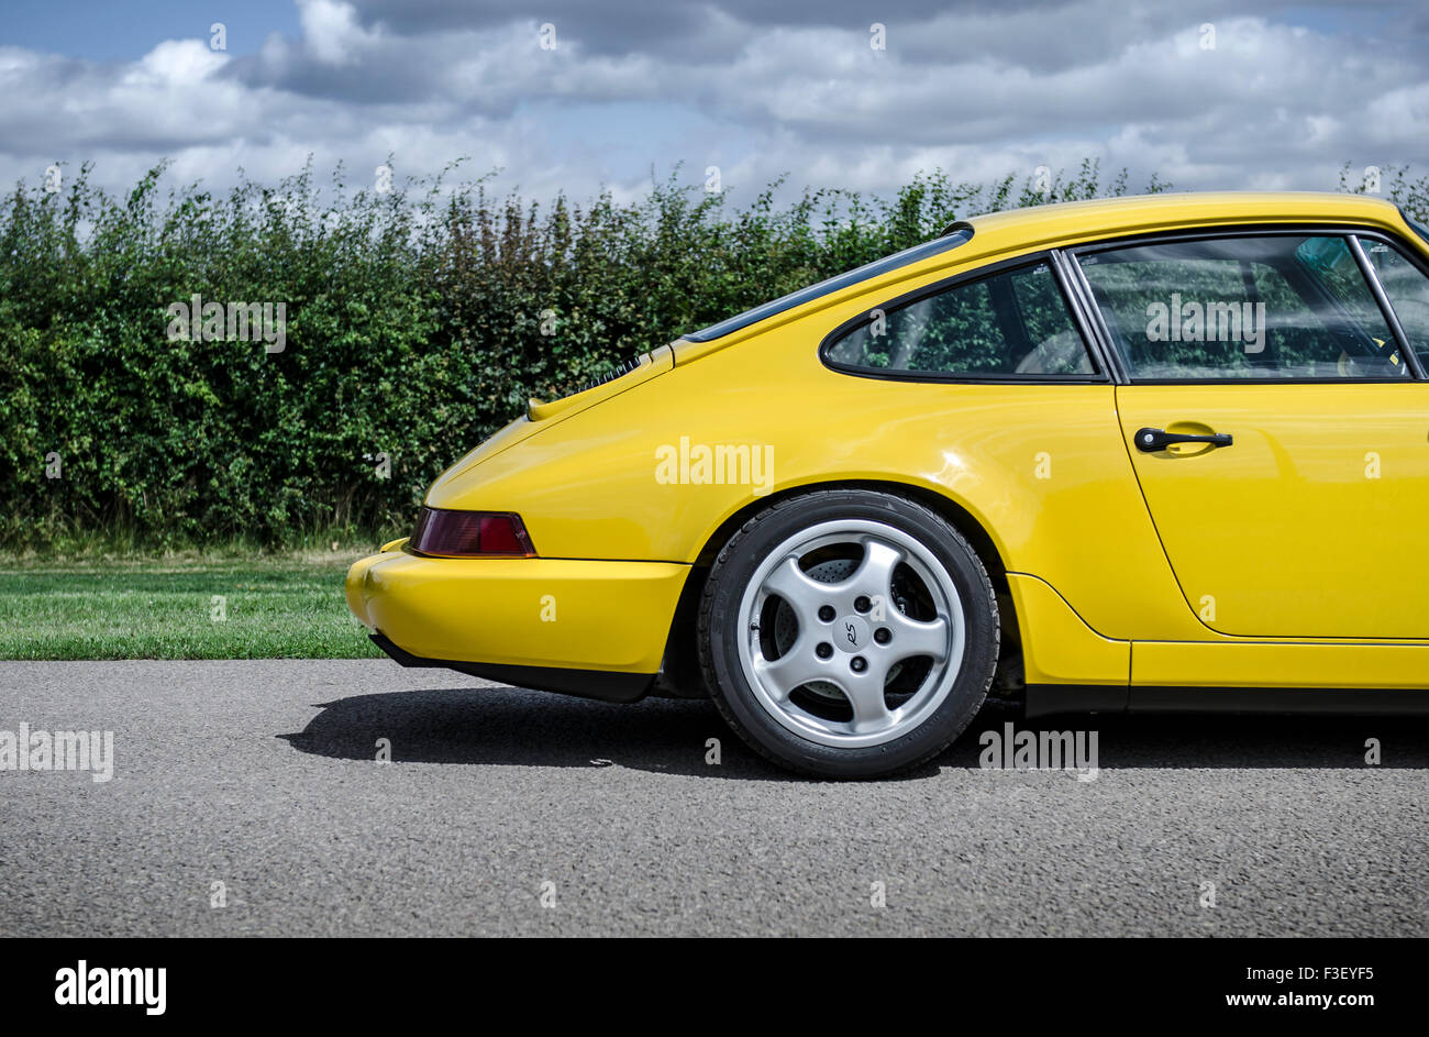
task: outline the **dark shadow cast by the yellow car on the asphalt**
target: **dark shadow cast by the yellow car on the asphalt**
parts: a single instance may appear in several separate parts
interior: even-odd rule
[[[712,778],[799,781],[725,727],[709,702],[647,698],[612,705],[516,688],[440,688],[353,695],[319,704],[293,748],[374,760],[387,739],[394,764],[626,767]],[[1429,768],[1429,718],[1256,715],[1066,715],[1025,721],[989,699],[947,751],[903,780],[945,767],[975,768],[985,732],[1096,732],[1096,765],[1115,768],[1363,768],[1378,739],[1380,768]],[[720,765],[707,762],[719,739]]]

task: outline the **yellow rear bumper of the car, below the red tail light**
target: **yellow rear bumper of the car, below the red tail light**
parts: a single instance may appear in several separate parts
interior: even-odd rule
[[[632,701],[660,668],[687,574],[674,562],[393,549],[353,564],[347,606],[403,665]]]

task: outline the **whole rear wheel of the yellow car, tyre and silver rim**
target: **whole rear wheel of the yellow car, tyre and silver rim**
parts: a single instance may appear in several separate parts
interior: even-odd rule
[[[997,602],[936,512],[887,493],[780,501],[720,551],[700,601],[704,678],[770,760],[870,777],[943,751],[997,661]]]

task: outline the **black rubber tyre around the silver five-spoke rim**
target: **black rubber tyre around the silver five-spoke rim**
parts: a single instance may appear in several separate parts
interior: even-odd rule
[[[787,538],[830,521],[879,522],[915,538],[956,588],[965,621],[962,664],[952,689],[916,728],[880,745],[830,747],[779,722],[756,697],[740,662],[739,615],[760,564]],[[792,771],[823,778],[867,778],[923,764],[946,750],[982,708],[997,665],[997,599],[977,552],[945,518],[892,493],[817,491],[782,499],[745,522],[719,552],[700,598],[697,648],[714,705],[729,727],[760,755]]]

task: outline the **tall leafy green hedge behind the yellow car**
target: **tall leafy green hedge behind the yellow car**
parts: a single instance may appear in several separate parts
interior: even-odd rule
[[[163,190],[159,167],[116,199],[81,169],[0,205],[0,545],[406,529],[430,479],[527,396],[955,217],[1126,189],[1085,163],[1047,192],[933,175],[892,199],[805,190],[783,207],[772,185],[736,209],[672,176],[632,205],[537,206],[453,170],[387,192],[340,176],[216,197]],[[173,340],[170,306],[196,293],[282,303],[283,352]]]

